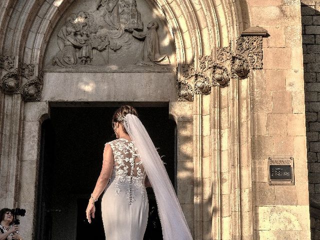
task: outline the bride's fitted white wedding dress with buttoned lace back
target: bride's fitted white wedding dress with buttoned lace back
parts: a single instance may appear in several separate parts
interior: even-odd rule
[[[142,240],[149,208],[144,167],[132,141],[118,138],[107,143],[114,163],[101,200],[105,238]]]

